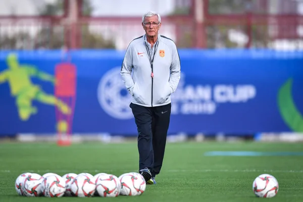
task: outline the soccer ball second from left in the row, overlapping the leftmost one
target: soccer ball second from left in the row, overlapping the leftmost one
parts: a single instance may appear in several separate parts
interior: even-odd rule
[[[43,177],[37,173],[30,173],[24,178],[24,186],[22,192],[25,196],[40,196],[42,195]]]

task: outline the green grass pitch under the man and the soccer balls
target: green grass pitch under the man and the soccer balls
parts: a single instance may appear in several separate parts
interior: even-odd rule
[[[156,185],[140,196],[116,198],[45,198],[18,196],[15,180],[23,172],[105,172],[120,176],[137,171],[136,142],[81,143],[58,147],[51,143],[0,143],[0,201],[303,201],[303,156],[204,156],[207,151],[302,152],[301,143],[168,143]],[[257,198],[252,182],[260,174],[279,182],[273,198]]]

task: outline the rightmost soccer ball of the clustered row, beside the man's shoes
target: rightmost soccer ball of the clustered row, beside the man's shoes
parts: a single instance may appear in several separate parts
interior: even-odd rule
[[[121,195],[141,195],[146,188],[146,182],[142,175],[139,173],[125,173],[120,177],[121,182]]]

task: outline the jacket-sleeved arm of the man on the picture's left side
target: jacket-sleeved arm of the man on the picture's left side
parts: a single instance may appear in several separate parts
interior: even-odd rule
[[[132,89],[134,87],[134,81],[131,77],[131,72],[132,72],[132,47],[129,45],[126,49],[126,53],[122,62],[122,67],[121,67],[121,77],[124,82],[124,85],[126,89],[129,91],[129,93],[132,95]]]

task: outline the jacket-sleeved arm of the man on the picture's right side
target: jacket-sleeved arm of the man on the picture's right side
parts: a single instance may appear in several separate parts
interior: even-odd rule
[[[181,74],[180,57],[175,43],[173,43],[172,47],[172,64],[170,67],[170,74],[169,85],[172,88],[171,91],[173,93],[177,89]]]

